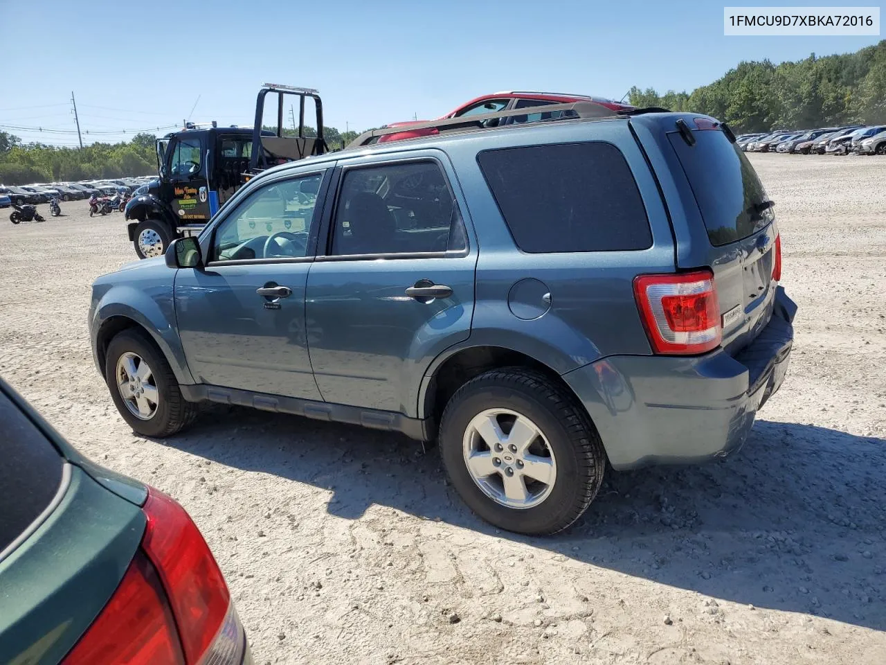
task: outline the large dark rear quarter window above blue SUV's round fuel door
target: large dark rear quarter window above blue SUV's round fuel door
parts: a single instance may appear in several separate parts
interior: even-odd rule
[[[517,246],[530,254],[648,249],[652,231],[625,156],[602,142],[477,156]]]

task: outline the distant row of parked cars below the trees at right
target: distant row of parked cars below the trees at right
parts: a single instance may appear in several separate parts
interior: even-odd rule
[[[744,134],[736,139],[736,143],[746,153],[886,154],[886,125]]]

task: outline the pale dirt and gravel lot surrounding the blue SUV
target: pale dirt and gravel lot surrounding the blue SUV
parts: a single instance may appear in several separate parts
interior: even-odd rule
[[[788,379],[739,453],[612,474],[560,536],[488,527],[400,436],[218,407],[136,437],[86,323],[93,278],[135,254],[85,201],[0,223],[0,373],[182,502],[257,665],[886,663],[886,159],[751,160],[799,304]]]

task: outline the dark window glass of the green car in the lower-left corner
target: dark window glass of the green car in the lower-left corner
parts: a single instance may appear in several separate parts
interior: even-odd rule
[[[40,516],[61,484],[64,461],[0,390],[0,552]]]

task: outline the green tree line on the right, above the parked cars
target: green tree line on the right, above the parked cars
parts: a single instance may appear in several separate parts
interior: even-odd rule
[[[886,40],[843,55],[742,62],[691,93],[630,91],[635,106],[707,113],[736,132],[886,123]]]

